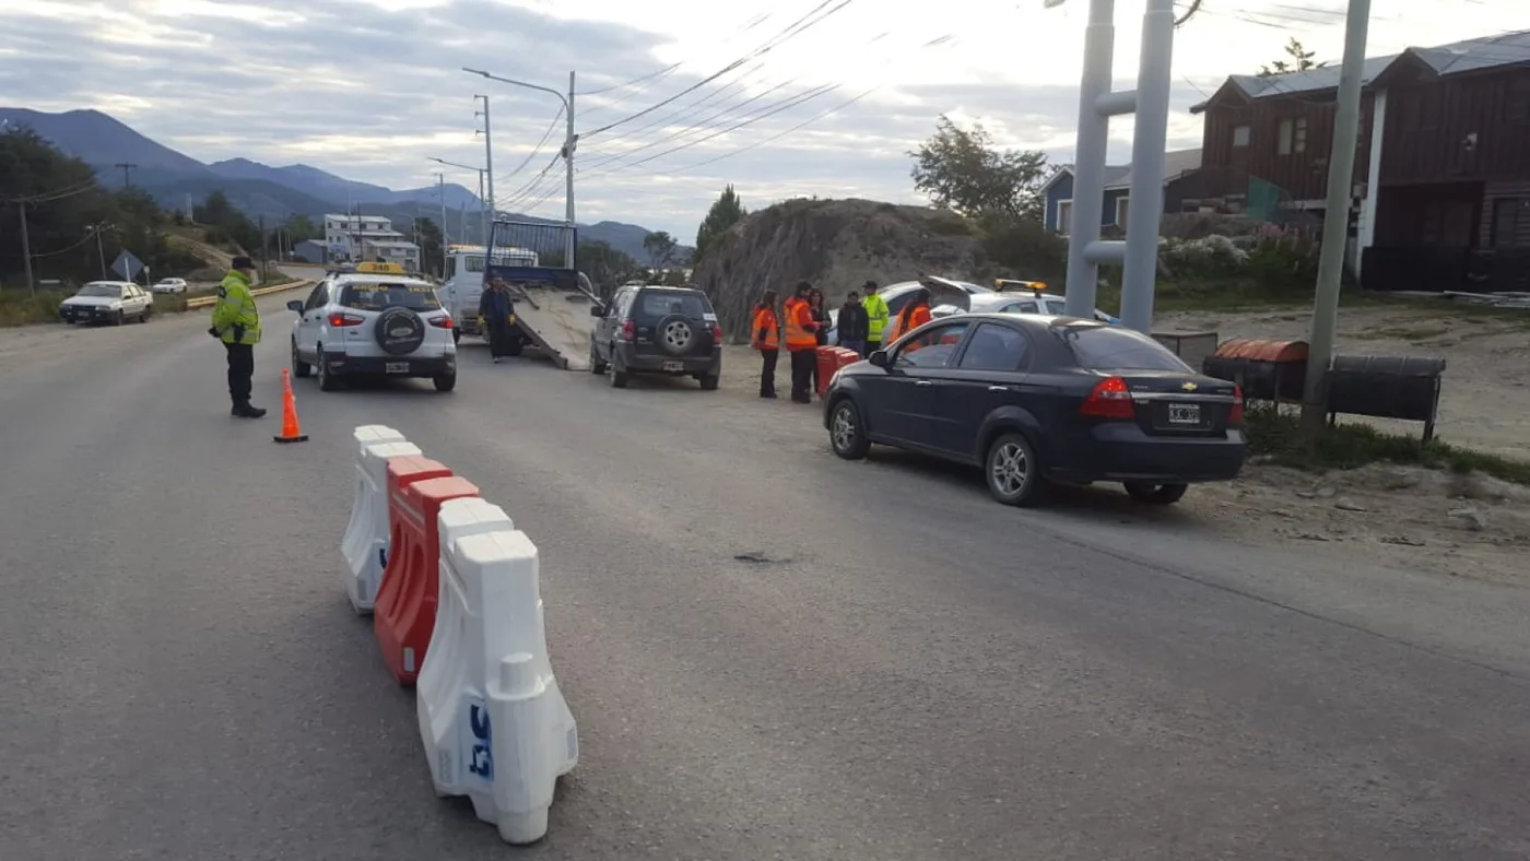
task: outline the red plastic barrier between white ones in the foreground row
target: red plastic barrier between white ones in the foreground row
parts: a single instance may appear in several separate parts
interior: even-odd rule
[[[387,466],[389,558],[378,587],[372,630],[382,661],[401,685],[413,685],[436,627],[441,537],[436,517],[447,500],[474,497],[473,482],[428,457],[395,457]]]

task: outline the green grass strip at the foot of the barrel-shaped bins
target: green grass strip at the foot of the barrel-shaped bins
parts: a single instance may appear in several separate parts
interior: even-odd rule
[[[1250,405],[1245,433],[1248,453],[1270,457],[1297,469],[1354,469],[1368,463],[1403,463],[1449,469],[1458,474],[1481,473],[1516,485],[1530,485],[1530,462],[1510,460],[1457,448],[1447,442],[1383,433],[1371,425],[1340,424],[1323,427],[1314,450],[1308,451],[1294,411],[1270,405]]]

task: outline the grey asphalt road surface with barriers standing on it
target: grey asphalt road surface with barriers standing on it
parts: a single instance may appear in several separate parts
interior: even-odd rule
[[[476,344],[451,395],[298,381],[282,447],[286,298],[259,422],[200,314],[0,333],[0,858],[1530,858],[1524,590],[1005,509],[817,410]],[[532,849],[435,797],[346,604],[360,424],[542,551],[583,759]]]

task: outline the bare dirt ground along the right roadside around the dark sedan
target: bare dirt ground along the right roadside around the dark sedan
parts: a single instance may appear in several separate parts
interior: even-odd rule
[[[1216,330],[1236,336],[1300,338],[1307,317],[1293,312],[1163,315],[1164,329]],[[1438,434],[1452,443],[1530,460],[1530,332],[1493,318],[1455,318],[1424,310],[1346,310],[1339,349],[1365,353],[1444,355]],[[656,381],[650,385],[669,385]],[[675,382],[673,385],[684,385]],[[750,416],[767,439],[817,434],[828,454],[822,410],[785,399],[788,373],[777,370],[782,399],[760,401],[759,356],[730,347],[719,399],[734,419]],[[742,414],[739,414],[742,413]],[[1366,419],[1351,419],[1366,421]],[[1397,433],[1421,425],[1375,421]],[[984,492],[972,477],[973,492]],[[1118,488],[1069,491],[1069,509],[1117,518]],[[1530,488],[1486,476],[1452,476],[1415,466],[1372,465],[1323,476],[1252,462],[1229,483],[1193,488],[1177,508],[1216,534],[1300,554],[1320,543],[1325,555],[1397,569],[1530,587]]]

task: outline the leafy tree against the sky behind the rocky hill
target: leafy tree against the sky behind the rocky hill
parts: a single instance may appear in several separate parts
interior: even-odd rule
[[[959,128],[941,115],[935,135],[909,153],[913,187],[942,210],[964,216],[1001,213],[1039,220],[1047,154],[1036,150],[1001,150],[981,125]]]

